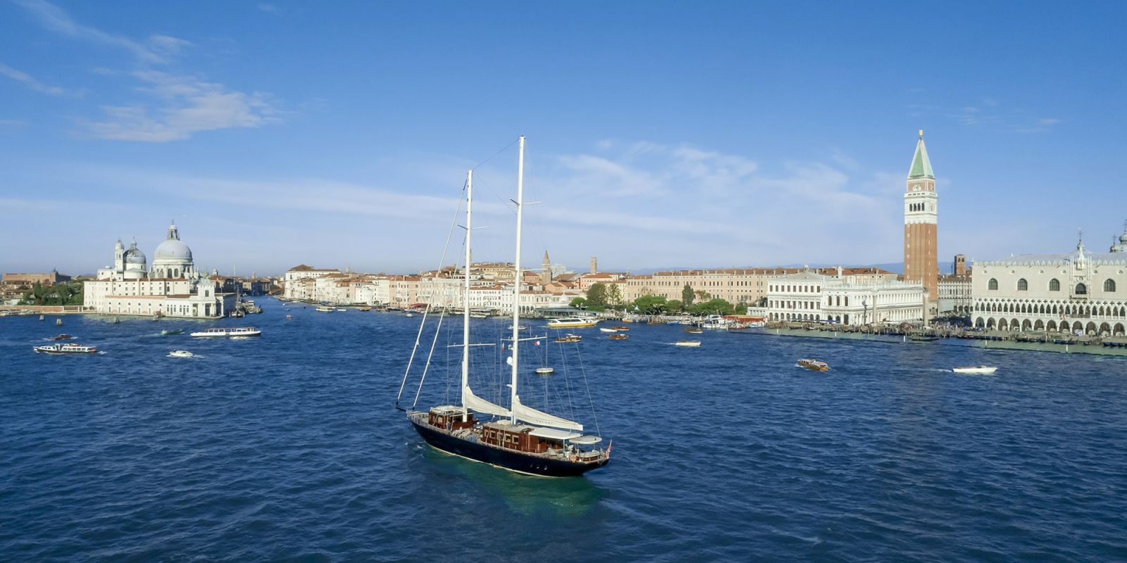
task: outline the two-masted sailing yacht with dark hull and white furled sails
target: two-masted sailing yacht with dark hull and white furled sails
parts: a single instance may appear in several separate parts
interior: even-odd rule
[[[520,137],[516,188],[516,258],[514,269],[521,271],[521,226],[524,197],[524,136]],[[472,232],[473,171],[465,181],[465,295],[470,291],[470,236]],[[520,346],[538,337],[521,338],[521,276],[513,284],[512,338],[506,364],[512,368],[508,383],[508,405],[497,404],[474,394],[470,387],[470,309],[462,307],[461,404],[444,404],[428,410],[403,409],[407,420],[432,447],[476,462],[539,476],[577,476],[606,465],[611,445],[602,448],[602,437],[584,434],[584,426],[521,402]],[[420,329],[421,334],[421,329]],[[535,342],[535,343],[539,343]],[[418,340],[416,340],[416,348]],[[433,348],[433,347],[432,347]],[[504,348],[503,348],[504,349]],[[428,358],[429,365],[429,358]],[[403,384],[410,373],[408,363]],[[424,369],[424,376],[425,376]],[[421,387],[421,382],[419,383]],[[400,386],[400,396],[402,385]],[[416,395],[417,396],[417,395]],[[481,417],[479,419],[479,417]]]

